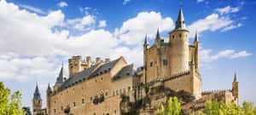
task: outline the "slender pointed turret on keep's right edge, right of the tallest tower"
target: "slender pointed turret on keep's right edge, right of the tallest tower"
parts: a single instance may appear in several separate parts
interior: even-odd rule
[[[197,32],[195,32],[195,41],[194,41],[194,47],[195,47],[195,72],[199,73],[199,41],[198,41],[198,35]]]

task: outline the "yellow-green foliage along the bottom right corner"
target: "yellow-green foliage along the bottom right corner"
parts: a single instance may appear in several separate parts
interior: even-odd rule
[[[200,115],[256,115],[256,107],[252,102],[243,102],[242,106],[235,103],[224,104],[223,101],[208,101],[205,112]]]

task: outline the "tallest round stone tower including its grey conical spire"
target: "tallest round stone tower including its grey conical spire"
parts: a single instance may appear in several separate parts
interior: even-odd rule
[[[189,31],[187,30],[183,17],[183,10],[180,7],[177,16],[176,26],[169,32],[171,45],[170,59],[172,74],[189,70]]]

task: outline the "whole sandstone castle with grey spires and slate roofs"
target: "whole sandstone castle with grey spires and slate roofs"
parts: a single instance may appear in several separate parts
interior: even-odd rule
[[[150,101],[147,103],[143,100],[145,107],[139,112],[151,115],[156,112],[152,110],[157,110],[160,104],[166,103],[166,94],[160,96],[166,92],[157,93],[154,89],[160,87],[183,91],[193,97],[193,101],[182,104],[182,108],[188,112],[201,110],[206,101],[216,99],[238,104],[236,75],[232,89],[201,91],[199,43],[196,33],[194,44],[189,44],[189,31],[180,8],[176,26],[169,32],[169,38],[160,37],[157,30],[154,44],[149,46],[148,37],[145,37],[141,67],[128,64],[122,56],[116,60],[101,60],[97,57],[96,61],[92,61],[90,56],[85,60],[81,56],[69,59],[69,77],[65,75],[62,66],[53,89],[48,86],[45,112],[49,115],[64,115],[65,112],[74,115],[120,115],[125,112],[125,106],[120,104],[123,102],[120,95],[125,95],[131,102],[147,97]],[[145,91],[146,87],[151,95]],[[158,95],[157,98],[154,95]],[[34,114],[42,112],[38,86],[32,103]]]

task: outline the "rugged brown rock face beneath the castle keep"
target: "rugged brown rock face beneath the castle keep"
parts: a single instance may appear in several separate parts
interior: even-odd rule
[[[177,97],[181,105],[195,101],[194,96],[183,90],[176,92],[172,89],[164,87],[163,85],[160,85],[149,89],[148,94],[146,94],[141,100],[131,102],[129,98],[123,98],[123,101],[120,103],[120,109],[122,114],[125,115],[130,115],[131,111],[134,110],[137,110],[137,114],[155,115],[157,109],[159,109],[161,105],[165,106],[169,98],[173,96]],[[183,112],[184,111],[187,112],[188,110],[183,110]]]

